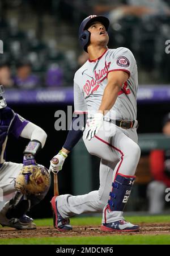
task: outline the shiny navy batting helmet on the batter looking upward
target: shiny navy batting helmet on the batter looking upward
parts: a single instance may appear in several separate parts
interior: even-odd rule
[[[95,21],[101,22],[106,30],[108,30],[109,27],[109,20],[104,16],[90,15],[82,21],[79,27],[79,42],[86,52],[88,43],[90,42],[90,31],[87,29],[90,27],[90,24]]]

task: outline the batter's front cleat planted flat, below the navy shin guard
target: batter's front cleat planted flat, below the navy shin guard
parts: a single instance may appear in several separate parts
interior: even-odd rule
[[[101,230],[105,232],[138,232],[139,226],[133,225],[125,220],[111,222],[101,225]]]

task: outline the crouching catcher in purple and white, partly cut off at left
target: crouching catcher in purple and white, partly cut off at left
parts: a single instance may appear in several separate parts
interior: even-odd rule
[[[49,171],[36,164],[35,155],[44,147],[46,133],[8,108],[0,85],[0,224],[16,229],[36,229],[27,211],[44,199],[50,186]],[[8,135],[30,139],[23,164],[5,161]],[[17,146],[14,145],[14,150]]]

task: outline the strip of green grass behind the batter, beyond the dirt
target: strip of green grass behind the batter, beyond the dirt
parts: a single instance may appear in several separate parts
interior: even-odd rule
[[[145,223],[154,223],[154,222],[169,222],[170,216],[125,216],[127,221],[132,222],[133,224]],[[51,218],[42,218],[34,221],[37,226],[52,226],[53,220]],[[70,223],[73,226],[86,226],[86,225],[97,225],[101,224],[101,217],[74,217],[70,218]]]

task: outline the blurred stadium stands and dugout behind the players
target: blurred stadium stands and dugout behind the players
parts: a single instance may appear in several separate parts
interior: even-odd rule
[[[137,60],[142,154],[126,211],[149,213],[147,186],[153,180],[150,151],[170,148],[169,138],[162,135],[162,118],[170,112],[170,53],[165,53],[165,42],[170,39],[168,0],[1,0],[0,84],[5,86],[8,106],[48,134],[37,162],[49,167],[67,135],[67,131],[54,129],[54,113],[59,109],[67,113],[67,105],[73,106],[74,72],[87,59],[78,43],[78,27],[90,14],[107,15],[111,20],[109,48],[128,47]],[[18,143],[10,138],[7,160],[22,162],[25,144],[24,139]],[[98,168],[99,159],[88,155],[80,141],[59,172],[59,192],[75,195],[98,189]],[[52,216],[52,196],[53,182],[45,200],[30,216]],[[170,212],[169,203],[161,213],[165,212]]]

